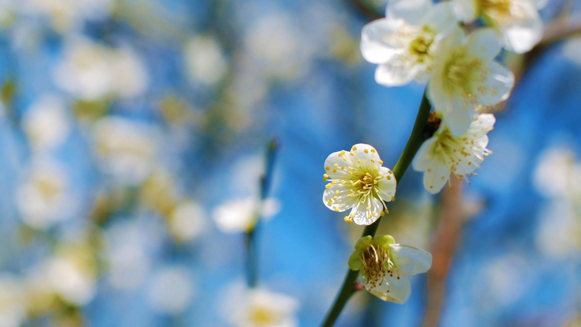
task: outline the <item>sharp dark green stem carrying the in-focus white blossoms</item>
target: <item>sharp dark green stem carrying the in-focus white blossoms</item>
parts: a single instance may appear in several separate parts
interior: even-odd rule
[[[397,183],[400,182],[401,177],[403,177],[404,173],[406,173],[408,166],[414,159],[415,153],[418,152],[419,147],[422,145],[422,143],[424,143],[424,129],[426,127],[426,122],[428,122],[430,109],[430,102],[428,101],[428,98],[426,98],[426,93],[424,92],[422,102],[419,105],[418,115],[415,117],[414,127],[411,130],[410,138],[407,140],[406,147],[404,148],[403,152],[401,152],[399,159],[397,159],[396,165],[393,167],[393,176],[395,177]],[[387,207],[385,202],[383,205],[384,207]],[[381,217],[379,217],[379,219],[377,219],[371,225],[365,226],[361,237],[368,235],[374,236],[380,221]],[[341,285],[339,293],[335,297],[335,301],[329,309],[329,312],[327,313],[322,326],[331,327],[333,324],[335,324],[335,321],[345,307],[345,304],[347,304],[349,298],[351,298],[353,293],[355,293],[357,290],[356,279],[358,275],[358,271],[347,269],[345,279],[343,279],[343,284]]]

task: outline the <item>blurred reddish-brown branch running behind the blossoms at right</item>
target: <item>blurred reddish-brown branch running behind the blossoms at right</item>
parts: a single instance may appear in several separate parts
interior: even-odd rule
[[[547,25],[544,36],[531,51],[522,55],[519,65],[512,67],[515,73],[515,87],[522,76],[533,65],[533,62],[555,42],[566,38],[581,36],[581,20],[569,16],[560,16]],[[503,109],[504,101],[497,106]],[[462,233],[462,226],[467,216],[462,211],[462,183],[452,179],[452,188],[443,191],[439,222],[433,237],[432,269],[428,271],[428,304],[424,317],[424,326],[437,326],[440,320],[444,294],[446,293],[446,278],[454,260]]]

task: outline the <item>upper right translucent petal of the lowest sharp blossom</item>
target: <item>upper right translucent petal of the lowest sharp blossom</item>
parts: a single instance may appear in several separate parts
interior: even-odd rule
[[[413,276],[426,272],[432,266],[432,254],[411,244],[390,244],[390,256],[396,268]]]

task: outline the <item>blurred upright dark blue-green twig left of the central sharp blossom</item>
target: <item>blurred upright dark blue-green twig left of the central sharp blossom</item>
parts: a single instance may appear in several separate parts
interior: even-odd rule
[[[280,143],[277,138],[272,138],[268,142],[264,173],[260,176],[260,198],[256,215],[254,216],[254,226],[246,232],[246,284],[248,287],[256,287],[258,279],[258,247],[256,246],[256,235],[260,228],[260,211],[264,200],[266,200],[270,193],[272,179],[274,177],[274,162],[279,148]]]

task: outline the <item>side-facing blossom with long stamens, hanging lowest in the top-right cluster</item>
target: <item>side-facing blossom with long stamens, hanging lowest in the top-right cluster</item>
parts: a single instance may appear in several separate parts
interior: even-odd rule
[[[424,172],[424,187],[429,193],[438,193],[454,173],[459,179],[480,168],[480,162],[490,153],[486,148],[488,136],[496,119],[492,113],[475,115],[468,131],[454,136],[445,126],[433,134],[419,148],[412,166]]]

